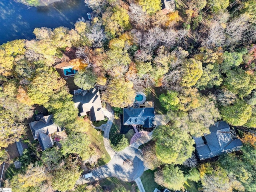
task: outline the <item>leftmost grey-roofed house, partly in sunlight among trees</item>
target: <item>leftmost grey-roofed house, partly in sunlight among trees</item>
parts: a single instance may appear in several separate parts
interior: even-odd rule
[[[42,150],[46,150],[53,146],[51,134],[60,132],[63,129],[58,127],[52,121],[52,115],[43,116],[39,121],[29,123],[34,140],[38,139]]]

